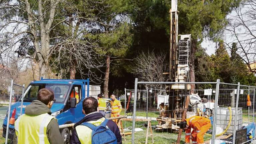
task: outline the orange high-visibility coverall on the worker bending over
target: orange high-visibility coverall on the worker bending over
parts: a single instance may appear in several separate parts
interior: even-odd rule
[[[201,116],[193,116],[185,120],[187,121],[187,125],[189,126],[186,129],[186,143],[189,143],[191,135],[193,144],[204,143],[204,134],[210,129],[211,121]],[[191,128],[194,129],[192,132]]]

